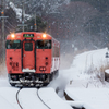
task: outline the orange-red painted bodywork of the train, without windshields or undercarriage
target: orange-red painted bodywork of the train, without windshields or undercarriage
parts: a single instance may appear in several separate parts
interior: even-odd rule
[[[31,34],[34,37],[24,37],[23,35]],[[11,35],[7,36],[7,40],[21,40],[20,49],[8,49],[7,48],[7,69],[9,74],[23,74],[23,69],[35,70],[34,73],[38,74],[48,74],[52,73],[56,70],[59,70],[57,63],[53,62],[52,50],[55,47],[60,48],[59,41],[52,38],[50,35],[43,38],[43,33],[35,32],[23,32],[14,34],[14,39]],[[51,40],[52,48],[51,49],[37,49],[36,41],[37,40]],[[9,45],[10,46],[10,45]],[[27,47],[29,46],[29,51],[27,51]],[[60,52],[59,52],[60,53]],[[60,56],[60,55],[59,55]],[[59,60],[60,57],[57,57]],[[57,68],[56,68],[57,66]]]

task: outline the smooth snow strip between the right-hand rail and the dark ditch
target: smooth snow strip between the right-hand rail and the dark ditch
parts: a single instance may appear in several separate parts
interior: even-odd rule
[[[66,102],[58,97],[53,88],[40,88],[39,96],[50,109],[72,109]]]

